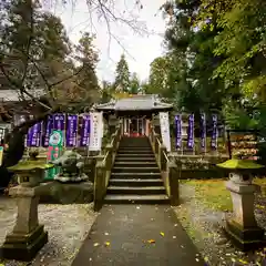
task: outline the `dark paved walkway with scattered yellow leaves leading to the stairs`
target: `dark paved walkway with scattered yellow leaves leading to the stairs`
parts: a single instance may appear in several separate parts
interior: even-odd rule
[[[149,241],[155,243],[149,243]],[[203,266],[196,247],[168,206],[108,205],[72,266]]]

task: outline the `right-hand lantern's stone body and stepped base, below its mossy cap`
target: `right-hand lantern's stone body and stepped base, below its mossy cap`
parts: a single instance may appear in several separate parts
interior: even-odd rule
[[[242,174],[231,174],[226,188],[231,192],[234,214],[226,221],[225,233],[242,250],[257,248],[265,244],[264,231],[257,226],[254,215],[254,193],[252,178]]]

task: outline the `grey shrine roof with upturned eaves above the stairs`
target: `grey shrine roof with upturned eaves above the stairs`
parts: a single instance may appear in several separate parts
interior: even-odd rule
[[[152,111],[171,110],[172,108],[172,104],[162,102],[162,100],[158,99],[155,94],[132,95],[95,106],[95,109],[99,111]]]

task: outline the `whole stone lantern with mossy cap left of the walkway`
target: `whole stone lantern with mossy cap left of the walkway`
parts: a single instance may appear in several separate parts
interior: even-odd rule
[[[38,204],[43,188],[50,185],[41,185],[40,182],[44,171],[53,165],[40,162],[37,155],[32,153],[29,161],[9,167],[20,178],[27,177],[28,181],[10,188],[10,195],[17,197],[18,215],[13,231],[6,236],[0,248],[2,258],[30,262],[48,242],[48,233],[39,224]]]

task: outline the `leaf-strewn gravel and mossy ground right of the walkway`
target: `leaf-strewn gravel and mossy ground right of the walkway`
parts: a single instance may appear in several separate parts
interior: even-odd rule
[[[181,183],[182,204],[174,207],[183,227],[188,233],[209,266],[266,265],[266,249],[242,253],[224,236],[222,226],[232,215],[229,192],[225,180],[184,181]],[[266,180],[255,180],[262,186],[256,194],[255,215],[258,225],[266,229]]]

